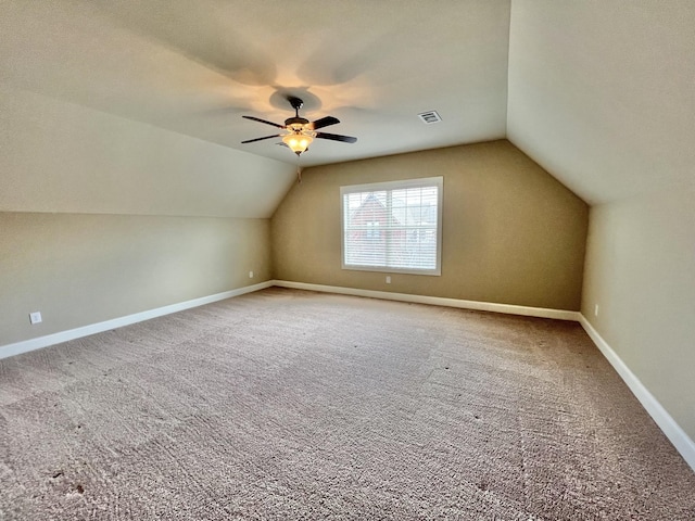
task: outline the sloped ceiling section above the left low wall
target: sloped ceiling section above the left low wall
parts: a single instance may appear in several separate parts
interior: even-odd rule
[[[0,211],[267,218],[279,161],[0,88]]]

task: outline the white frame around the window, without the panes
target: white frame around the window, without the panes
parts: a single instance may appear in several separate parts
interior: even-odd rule
[[[390,266],[365,266],[365,265],[354,265],[354,264],[345,264],[345,240],[346,240],[346,230],[345,230],[345,195],[350,193],[359,193],[359,192],[376,192],[376,191],[393,191],[393,190],[402,190],[408,188],[425,188],[425,187],[437,187],[437,259],[435,267],[433,269],[416,269],[416,268],[394,268]],[[384,274],[407,274],[407,275],[426,275],[426,276],[434,276],[439,277],[442,275],[442,202],[443,202],[443,192],[444,192],[444,177],[435,176],[435,177],[422,177],[416,179],[403,179],[396,181],[381,181],[381,182],[369,182],[364,185],[348,185],[340,187],[340,232],[341,232],[341,268],[346,270],[356,270],[356,271],[376,271],[376,272],[384,272]],[[388,233],[389,230],[387,227],[383,227],[379,230],[381,233]]]

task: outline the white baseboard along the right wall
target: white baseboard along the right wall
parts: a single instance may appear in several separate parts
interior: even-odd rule
[[[622,359],[608,343],[598,334],[594,327],[580,314],[579,322],[582,325],[591,340],[594,341],[598,350],[610,363],[614,369],[620,374],[623,382],[630,387],[632,394],[640,401],[642,406],[649,414],[652,419],[664,431],[664,434],[671,441],[675,449],[681,454],[683,459],[695,471],[695,442],[681,429],[675,420],[667,412],[664,406],[654,397],[654,395],[644,386],[640,379],[630,370]]]

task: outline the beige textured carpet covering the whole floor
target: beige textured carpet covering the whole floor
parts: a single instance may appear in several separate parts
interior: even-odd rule
[[[573,322],[269,289],[0,360],[2,520],[693,520]]]

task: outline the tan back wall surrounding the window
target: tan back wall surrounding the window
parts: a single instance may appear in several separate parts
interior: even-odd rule
[[[444,177],[442,276],[341,269],[340,187]],[[589,207],[506,140],[307,168],[271,219],[276,279],[578,310]]]

